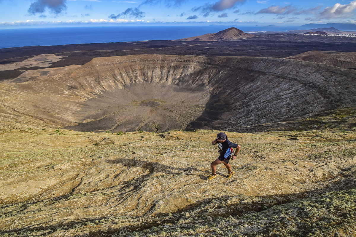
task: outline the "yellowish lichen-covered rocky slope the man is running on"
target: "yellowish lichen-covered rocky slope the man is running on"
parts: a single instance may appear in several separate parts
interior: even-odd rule
[[[356,236],[355,128],[226,132],[207,180],[216,133],[2,130],[0,235]]]

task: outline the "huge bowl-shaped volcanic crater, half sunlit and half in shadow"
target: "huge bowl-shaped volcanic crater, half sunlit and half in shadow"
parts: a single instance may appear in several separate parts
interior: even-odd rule
[[[248,131],[352,106],[355,78],[354,70],[279,58],[94,58],[0,84],[0,110],[5,127],[15,120],[81,131]]]

